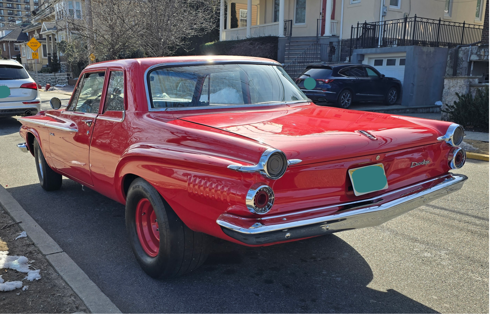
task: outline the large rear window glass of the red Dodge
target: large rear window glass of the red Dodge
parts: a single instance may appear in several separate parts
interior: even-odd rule
[[[248,105],[307,100],[280,66],[214,64],[153,70],[152,108]]]

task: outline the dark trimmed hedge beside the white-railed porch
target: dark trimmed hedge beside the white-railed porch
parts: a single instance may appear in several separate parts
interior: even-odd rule
[[[267,36],[218,41],[200,45],[199,50],[202,55],[240,55],[277,60],[277,40],[276,36]]]

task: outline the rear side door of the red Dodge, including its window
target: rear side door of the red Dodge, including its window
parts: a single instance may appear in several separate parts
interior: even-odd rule
[[[90,165],[94,186],[115,198],[114,175],[131,128],[125,121],[126,73],[123,69],[109,68],[107,75],[108,84],[90,144]]]

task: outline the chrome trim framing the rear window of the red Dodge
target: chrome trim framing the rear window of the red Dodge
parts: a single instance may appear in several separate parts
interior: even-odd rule
[[[259,104],[245,104],[245,105],[218,105],[218,106],[203,106],[203,107],[175,107],[175,108],[151,108],[151,100],[150,100],[150,91],[149,91],[149,82],[148,82],[148,73],[150,71],[155,70],[155,68],[172,68],[174,66],[179,67],[187,67],[187,66],[199,66],[199,65],[213,65],[213,64],[264,64],[264,65],[273,65],[280,66],[282,65],[276,61],[248,61],[248,60],[236,60],[236,61],[226,61],[226,60],[209,60],[209,61],[192,61],[192,62],[169,62],[169,63],[159,63],[152,65],[145,71],[145,91],[147,93],[147,105],[148,112],[152,111],[180,111],[180,110],[204,110],[204,109],[221,109],[221,108],[249,108],[249,107],[266,107],[266,106],[276,106],[283,104],[294,104],[294,103],[302,103],[302,102],[311,102],[310,99],[304,100],[293,100],[293,101],[282,101],[282,102],[274,102],[274,103],[259,103]]]

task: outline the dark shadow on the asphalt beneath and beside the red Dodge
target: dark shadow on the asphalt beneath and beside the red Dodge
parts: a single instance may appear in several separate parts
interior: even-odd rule
[[[438,313],[368,288],[370,266],[335,235],[265,247],[213,238],[195,272],[156,280],[129,248],[123,205],[68,179],[55,192],[38,184],[7,191],[123,312]]]

